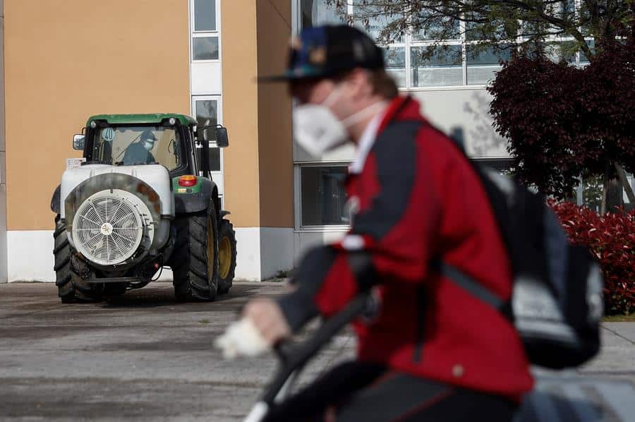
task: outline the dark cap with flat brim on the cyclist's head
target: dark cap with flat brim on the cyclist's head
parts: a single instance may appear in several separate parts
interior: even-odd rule
[[[349,25],[325,25],[302,30],[291,38],[289,65],[282,75],[262,81],[328,78],[353,68],[384,68],[382,49],[364,32]]]

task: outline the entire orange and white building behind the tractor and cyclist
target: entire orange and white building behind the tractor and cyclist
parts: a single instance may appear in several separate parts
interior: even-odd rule
[[[344,13],[356,20],[365,6],[348,3]],[[71,138],[92,114],[174,112],[228,128],[229,148],[210,140],[210,162],[236,227],[237,279],[291,270],[307,248],[348,228],[342,182],[352,148],[309,155],[292,141],[286,87],[256,83],[283,70],[291,34],[344,21],[326,0],[0,5],[0,282],[54,280],[49,201],[66,159],[80,157]],[[363,29],[376,37],[388,22],[373,18]],[[504,169],[485,90],[498,56],[471,56],[473,40],[457,35],[444,43],[460,60],[424,62],[418,53],[430,43],[406,33],[387,45],[389,72],[469,155]]]

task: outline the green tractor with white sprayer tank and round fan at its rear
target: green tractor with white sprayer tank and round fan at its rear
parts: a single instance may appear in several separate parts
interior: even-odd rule
[[[226,128],[209,124],[182,114],[88,119],[73,138],[83,162],[64,171],[51,202],[63,303],[144,287],[164,266],[179,301],[229,291],[236,234],[212,181],[207,132],[219,147],[229,139]]]

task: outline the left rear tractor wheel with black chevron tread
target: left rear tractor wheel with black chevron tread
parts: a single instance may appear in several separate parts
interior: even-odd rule
[[[73,254],[71,244],[68,243],[66,224],[61,222],[59,215],[55,217],[53,239],[55,284],[62,303],[95,302],[102,299],[104,285],[87,283],[80,276],[90,272],[90,268]]]

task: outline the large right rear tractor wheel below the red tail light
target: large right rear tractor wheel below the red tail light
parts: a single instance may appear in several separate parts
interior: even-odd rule
[[[207,211],[179,215],[172,253],[174,294],[179,301],[213,301],[218,285],[218,228],[214,203]]]

